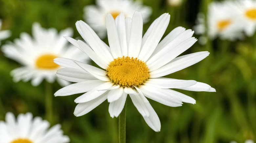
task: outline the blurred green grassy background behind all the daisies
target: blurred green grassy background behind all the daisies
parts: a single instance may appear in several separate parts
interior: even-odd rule
[[[144,24],[144,32],[162,13],[171,15],[164,34],[183,26],[191,29],[199,11],[206,13],[210,0],[187,0],[181,6],[172,7],[165,0],[144,0],[151,6],[150,22]],[[42,27],[58,30],[72,27],[74,37],[79,37],[75,22],[83,20],[83,7],[95,4],[94,0],[0,0],[2,29],[10,29],[12,36],[2,41],[19,38],[21,32],[31,34],[33,22]],[[198,35],[194,35],[198,38]],[[82,39],[82,38],[79,38]],[[104,39],[107,43],[107,39]],[[195,105],[184,103],[181,107],[169,107],[150,100],[161,121],[161,131],[154,132],[127,100],[126,138],[128,143],[244,143],[256,137],[256,36],[243,41],[208,40],[202,46],[196,42],[182,55],[209,51],[203,61],[167,77],[196,80],[214,87],[217,92],[177,90],[193,97]],[[94,64],[94,63],[92,63]],[[0,52],[0,120],[6,112],[32,112],[45,117],[45,81],[38,87],[30,82],[13,83],[10,71],[20,65]],[[53,84],[53,93],[60,89]],[[80,95],[80,94],[79,94]],[[53,97],[54,119],[51,125],[60,123],[71,143],[118,143],[118,118],[112,119],[105,101],[82,117],[73,115],[79,95]]]

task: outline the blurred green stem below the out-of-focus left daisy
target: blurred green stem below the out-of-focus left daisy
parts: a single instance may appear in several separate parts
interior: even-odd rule
[[[53,92],[52,85],[48,82],[45,84],[45,111],[46,119],[53,123]]]

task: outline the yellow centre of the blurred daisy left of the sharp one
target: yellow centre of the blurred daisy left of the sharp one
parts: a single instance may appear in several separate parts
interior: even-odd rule
[[[56,69],[59,67],[59,65],[53,62],[53,59],[56,57],[58,56],[52,54],[39,56],[35,62],[35,65],[38,69]]]

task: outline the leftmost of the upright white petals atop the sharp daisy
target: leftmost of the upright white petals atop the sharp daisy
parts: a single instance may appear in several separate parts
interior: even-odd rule
[[[117,26],[113,16],[110,13],[106,15],[105,23],[107,27],[108,42],[112,56],[114,58],[121,57],[122,53],[117,33]]]

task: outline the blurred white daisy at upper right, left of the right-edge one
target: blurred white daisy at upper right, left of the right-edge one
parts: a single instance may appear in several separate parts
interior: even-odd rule
[[[234,12],[235,11],[235,12]],[[236,40],[243,38],[243,21],[238,16],[240,11],[237,1],[214,1],[208,6],[206,17],[199,13],[196,25],[193,27],[195,34],[209,36],[210,39]],[[201,38],[205,42],[205,37]],[[200,41],[200,43],[204,43]]]

